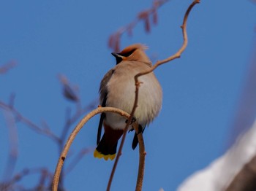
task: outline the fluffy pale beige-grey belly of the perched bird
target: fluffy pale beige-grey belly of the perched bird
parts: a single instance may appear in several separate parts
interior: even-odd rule
[[[138,106],[135,117],[140,125],[146,125],[157,116],[162,106],[162,89],[157,79],[152,80],[149,75],[140,77],[143,82],[139,88]],[[119,80],[121,80],[119,78]],[[124,112],[132,112],[135,101],[134,79],[124,79],[123,82],[110,83],[106,106],[116,107]],[[120,85],[120,83],[122,85]],[[107,113],[105,122],[112,128],[124,129],[126,119],[119,114]]]

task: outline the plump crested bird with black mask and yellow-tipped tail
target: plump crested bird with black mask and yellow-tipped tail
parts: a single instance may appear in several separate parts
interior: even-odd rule
[[[99,104],[102,107],[110,106],[122,109],[124,112],[132,112],[135,101],[135,75],[151,69],[152,63],[143,44],[132,44],[121,50],[112,52],[116,58],[116,66],[110,69],[99,86]],[[138,107],[135,109],[133,120],[138,122],[140,132],[158,116],[162,109],[162,87],[152,71],[139,77],[140,89],[138,95]],[[97,133],[97,147],[94,157],[113,160],[116,157],[118,139],[124,133],[127,119],[112,112],[102,113],[99,120]],[[104,134],[101,137],[102,125]],[[129,131],[132,131],[129,125]],[[132,149],[138,145],[138,136],[132,141]]]

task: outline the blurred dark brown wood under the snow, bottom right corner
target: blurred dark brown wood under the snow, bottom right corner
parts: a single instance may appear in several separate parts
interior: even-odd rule
[[[246,163],[225,191],[256,190],[256,156]]]

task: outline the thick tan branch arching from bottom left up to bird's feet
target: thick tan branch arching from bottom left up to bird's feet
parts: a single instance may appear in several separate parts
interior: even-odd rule
[[[70,134],[69,139],[67,139],[64,149],[61,152],[61,156],[59,157],[59,162],[56,165],[56,170],[55,170],[55,173],[53,176],[53,183],[52,183],[53,191],[58,190],[59,176],[61,174],[61,169],[62,169],[62,166],[64,165],[64,160],[67,157],[67,152],[69,152],[69,148],[71,147],[71,144],[75,139],[75,136],[77,136],[80,129],[83,128],[83,125],[85,125],[86,122],[88,122],[91,119],[91,117],[94,117],[94,115],[102,113],[102,112],[115,112],[117,114],[121,114],[121,116],[124,116],[126,118],[129,117],[129,114],[127,112],[124,112],[121,109],[116,109],[113,107],[98,107],[97,109],[94,109],[92,112],[90,112],[85,117],[83,117],[83,119],[80,120],[78,125],[75,127],[75,129]]]

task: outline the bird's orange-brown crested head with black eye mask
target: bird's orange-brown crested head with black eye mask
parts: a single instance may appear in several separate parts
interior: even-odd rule
[[[119,53],[112,52],[112,55],[116,57],[116,64],[121,61],[140,61],[151,65],[151,61],[144,52],[146,49],[147,47],[143,44],[132,44]]]

